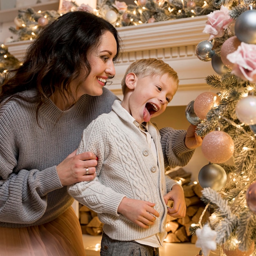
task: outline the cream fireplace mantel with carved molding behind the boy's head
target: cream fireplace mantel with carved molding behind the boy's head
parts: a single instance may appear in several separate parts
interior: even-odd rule
[[[115,79],[108,88],[122,98],[121,80],[128,65],[150,57],[162,59],[178,73],[180,85],[169,106],[186,106],[198,94],[208,91],[205,78],[216,73],[211,61],[200,61],[195,54],[198,43],[209,38],[202,33],[206,21],[206,16],[199,16],[118,28],[123,53],[115,64]],[[6,46],[13,56],[22,60],[30,43],[19,41]]]

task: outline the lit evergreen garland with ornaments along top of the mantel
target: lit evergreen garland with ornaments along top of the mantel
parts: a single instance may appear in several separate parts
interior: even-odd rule
[[[33,40],[51,20],[68,11],[90,11],[109,20],[115,27],[125,27],[207,15],[219,7],[210,0],[135,0],[134,2],[135,4],[127,5],[126,2],[116,0],[98,0],[97,9],[92,9],[89,5],[78,6],[75,1],[63,0],[63,7],[58,11],[35,11],[33,8],[19,10],[14,19],[16,27],[9,28],[18,38],[7,38],[4,43]]]

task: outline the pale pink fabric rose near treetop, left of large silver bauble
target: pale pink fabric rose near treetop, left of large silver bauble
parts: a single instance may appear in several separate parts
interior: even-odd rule
[[[220,10],[209,13],[207,17],[208,20],[203,33],[210,34],[209,40],[212,40],[215,37],[222,37],[224,35],[224,29],[229,27],[233,21],[229,16],[229,9],[223,5],[220,7]]]

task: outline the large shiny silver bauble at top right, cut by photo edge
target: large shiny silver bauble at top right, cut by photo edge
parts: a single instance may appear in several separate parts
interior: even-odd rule
[[[248,10],[238,16],[235,33],[241,42],[256,44],[256,10]]]

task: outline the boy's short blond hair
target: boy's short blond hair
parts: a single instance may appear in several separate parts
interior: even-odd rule
[[[127,68],[124,78],[122,79],[122,92],[126,90],[126,76],[129,73],[134,73],[139,78],[146,76],[164,75],[168,74],[173,79],[173,82],[178,86],[179,78],[177,72],[173,68],[162,60],[156,58],[143,58],[133,62]]]

